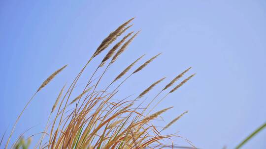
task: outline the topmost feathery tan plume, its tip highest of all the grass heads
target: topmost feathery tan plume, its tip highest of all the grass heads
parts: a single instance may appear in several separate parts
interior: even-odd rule
[[[100,52],[105,50],[119,35],[121,35],[121,31],[123,31],[124,27],[127,26],[134,18],[130,19],[126,23],[120,25],[115,31],[111,32],[100,44],[100,46],[97,48],[95,53],[93,54],[95,56],[99,55]]]

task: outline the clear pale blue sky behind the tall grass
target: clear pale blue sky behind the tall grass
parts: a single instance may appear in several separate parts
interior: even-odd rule
[[[167,133],[179,131],[200,149],[232,149],[266,121],[265,0],[0,0],[0,134],[10,130],[42,81],[68,64],[27,108],[15,136],[31,126],[31,133],[43,130],[64,83],[132,17],[132,29],[141,33],[108,76],[143,53],[146,59],[163,54],[128,80],[125,96],[190,66],[189,75],[197,73],[159,105],[175,106],[164,115],[166,123],[189,110]],[[243,149],[266,149],[265,140],[266,130]]]

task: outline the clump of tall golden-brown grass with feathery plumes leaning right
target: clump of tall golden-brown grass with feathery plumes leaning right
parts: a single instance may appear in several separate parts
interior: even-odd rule
[[[191,68],[188,68],[181,74],[177,74],[175,78],[166,83],[166,86],[160,89],[156,96],[149,95],[149,92],[156,88],[159,83],[163,83],[166,77],[154,80],[150,86],[138,93],[136,97],[129,96],[124,99],[116,99],[119,94],[118,90],[122,87],[126,80],[131,76],[139,74],[142,70],[148,67],[152,61],[156,60],[161,53],[155,54],[147,58],[144,63],[139,63],[142,56],[133,59],[121,73],[117,73],[114,78],[109,78],[110,82],[103,82],[104,88],[99,87],[102,82],[102,77],[110,70],[112,64],[119,60],[119,56],[127,50],[133,39],[139,34],[137,32],[128,32],[131,28],[131,22],[134,18],[120,25],[112,31],[94,51],[87,63],[76,75],[74,80],[69,85],[62,84],[62,89],[55,99],[54,105],[51,107],[49,118],[43,132],[40,132],[40,137],[35,145],[31,145],[34,149],[161,149],[164,147],[174,148],[174,143],[171,141],[174,137],[180,137],[176,134],[163,134],[163,130],[175,123],[180,116],[173,119],[164,126],[154,125],[154,121],[158,120],[165,112],[173,107],[164,107],[159,111],[152,109],[157,106],[170,93],[176,91],[184,85],[194,75],[190,75],[174,84],[183,77]],[[124,33],[126,35],[124,35]],[[118,38],[120,40],[117,41]],[[115,43],[117,41],[117,43]],[[114,45],[111,47],[111,45]],[[108,50],[109,49],[109,50]],[[81,92],[77,93],[75,87],[80,76],[83,74],[86,67],[97,56],[100,56],[104,50],[106,55],[102,56],[99,66],[88,77],[88,81]],[[138,65],[138,66],[135,66]],[[134,68],[135,67],[135,68]],[[134,69],[133,69],[134,68]],[[25,140],[23,134],[14,143],[10,143],[10,139],[15,130],[16,124],[19,122],[21,115],[34,99],[38,92],[41,92],[56,75],[59,75],[66,66],[55,71],[50,75],[33,94],[33,97],[28,101],[22,112],[19,114],[12,131],[9,133],[4,149],[27,149],[31,140]],[[95,76],[96,74],[100,76]],[[88,76],[86,74],[86,76]],[[113,88],[113,89],[110,89]],[[75,92],[75,93],[74,93]],[[78,94],[77,97],[72,94]],[[163,98],[160,95],[162,94]],[[143,97],[146,96],[146,99]],[[151,97],[151,100],[148,97]],[[147,103],[146,103],[147,102]],[[153,107],[151,107],[153,105]],[[149,112],[146,112],[149,110]],[[153,113],[151,113],[153,112]],[[32,138],[37,138],[39,135],[33,135]],[[3,138],[3,137],[2,137]],[[167,141],[168,140],[168,141]],[[170,141],[169,141],[170,140]],[[194,146],[187,141],[191,148]],[[2,140],[1,140],[2,143]],[[1,144],[0,144],[1,145]]]

